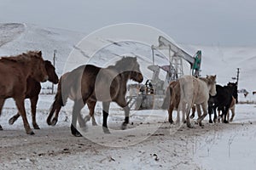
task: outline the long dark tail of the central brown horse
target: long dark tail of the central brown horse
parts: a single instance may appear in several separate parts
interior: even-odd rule
[[[66,103],[67,103],[68,95],[63,96],[63,94],[62,94],[63,76],[61,76],[61,78],[60,78],[60,81],[58,83],[57,93],[55,94],[55,100],[50,107],[49,116],[47,117],[47,121],[46,121],[48,123],[48,125],[52,124],[51,119],[52,119],[52,116],[55,113],[56,109],[61,108],[62,106],[66,105]]]

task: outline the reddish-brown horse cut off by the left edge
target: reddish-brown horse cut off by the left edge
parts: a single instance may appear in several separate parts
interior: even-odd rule
[[[34,134],[26,119],[24,100],[26,98],[27,78],[32,77],[38,82],[48,79],[41,51],[29,51],[16,56],[0,59],[0,115],[5,99],[15,99],[23,125],[27,134]],[[0,129],[3,129],[0,126]]]

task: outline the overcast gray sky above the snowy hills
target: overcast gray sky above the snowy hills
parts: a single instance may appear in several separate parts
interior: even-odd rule
[[[0,0],[0,22],[85,33],[132,22],[181,43],[256,45],[255,0]]]

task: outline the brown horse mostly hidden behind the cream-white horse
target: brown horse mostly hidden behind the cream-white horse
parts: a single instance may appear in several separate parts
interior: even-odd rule
[[[163,105],[161,106],[162,109],[166,110],[168,109],[168,121],[172,124],[173,119],[172,119],[172,111],[174,109],[177,110],[177,120],[176,123],[180,122],[180,116],[179,116],[179,111],[181,108],[178,108],[180,102],[180,84],[177,81],[172,81],[170,82],[169,86],[166,88],[166,97],[164,99]],[[167,107],[169,105],[169,107]],[[183,105],[184,106],[184,105]],[[192,114],[195,115],[195,105],[192,106]],[[191,118],[191,116],[190,116]],[[183,120],[182,122],[185,121],[185,115],[183,112]]]

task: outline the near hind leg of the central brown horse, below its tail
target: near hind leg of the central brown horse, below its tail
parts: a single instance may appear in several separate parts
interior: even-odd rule
[[[71,124],[71,133],[76,136],[80,137],[82,136],[81,133],[77,130],[77,121],[78,116],[80,115],[81,109],[84,107],[83,99],[75,100],[73,105],[73,113],[72,113],[72,124]]]

